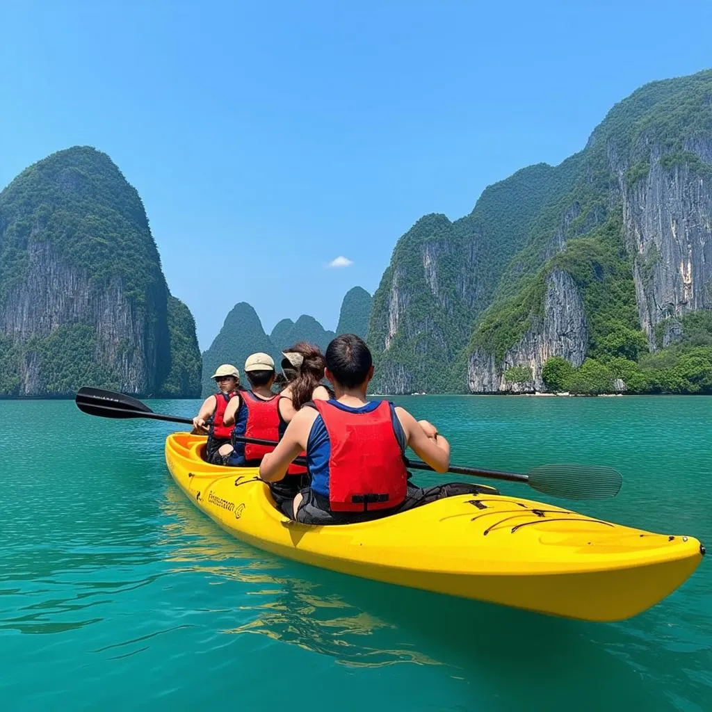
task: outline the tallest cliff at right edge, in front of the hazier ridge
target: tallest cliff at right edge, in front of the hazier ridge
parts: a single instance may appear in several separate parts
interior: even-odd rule
[[[711,121],[712,72],[651,83],[556,167],[570,179],[531,221],[476,323],[471,390],[541,389],[553,355],[574,366],[587,355],[636,360],[643,333],[651,350],[666,347],[683,338],[680,318],[712,308]]]

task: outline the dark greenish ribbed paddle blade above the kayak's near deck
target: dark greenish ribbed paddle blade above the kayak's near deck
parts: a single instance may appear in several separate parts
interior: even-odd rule
[[[528,476],[530,487],[565,499],[615,497],[623,484],[621,473],[600,465],[542,465]]]

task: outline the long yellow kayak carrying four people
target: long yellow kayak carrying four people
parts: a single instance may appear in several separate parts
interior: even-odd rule
[[[591,621],[634,616],[676,590],[704,549],[540,502],[455,496],[370,522],[288,520],[256,468],[201,459],[174,433],[166,462],[192,502],[236,538],[305,564],[452,596]]]

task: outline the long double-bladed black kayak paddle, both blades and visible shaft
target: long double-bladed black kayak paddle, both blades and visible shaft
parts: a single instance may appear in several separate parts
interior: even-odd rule
[[[145,403],[136,398],[100,388],[80,388],[76,394],[75,402],[83,413],[98,415],[103,418],[150,418],[170,423],[193,424],[192,418],[155,413]],[[241,436],[235,436],[235,439],[254,445],[277,444],[273,440],[260,440]],[[414,470],[434,471],[431,466],[419,460],[406,460],[406,464]],[[448,472],[493,480],[521,482],[544,494],[565,499],[606,499],[615,497],[623,483],[623,478],[619,472],[611,467],[600,465],[541,465],[526,474],[451,465]]]

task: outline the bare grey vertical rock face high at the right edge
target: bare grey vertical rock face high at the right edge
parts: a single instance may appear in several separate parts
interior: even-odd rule
[[[661,320],[712,308],[712,137],[686,140],[684,149],[666,164],[669,157],[651,147],[649,173],[632,186],[619,172],[640,323],[651,349]]]

